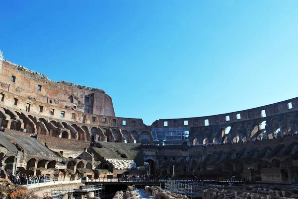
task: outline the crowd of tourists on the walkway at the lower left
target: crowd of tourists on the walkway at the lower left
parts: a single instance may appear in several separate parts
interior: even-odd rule
[[[47,181],[47,177],[45,175],[34,176],[34,175],[26,175],[22,173],[17,173],[15,175],[8,174],[8,179],[17,185],[30,185],[35,183],[44,183]]]

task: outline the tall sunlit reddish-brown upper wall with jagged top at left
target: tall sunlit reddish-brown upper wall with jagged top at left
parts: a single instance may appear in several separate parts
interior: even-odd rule
[[[0,89],[32,99],[38,103],[71,108],[83,113],[115,116],[112,98],[104,90],[55,82],[43,74],[3,60]]]

